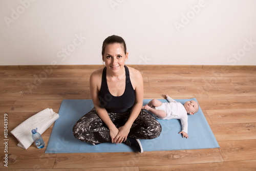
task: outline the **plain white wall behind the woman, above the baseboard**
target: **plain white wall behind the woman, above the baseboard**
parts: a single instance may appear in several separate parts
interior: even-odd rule
[[[102,64],[113,34],[127,64],[256,65],[255,9],[255,0],[0,1],[0,65]]]

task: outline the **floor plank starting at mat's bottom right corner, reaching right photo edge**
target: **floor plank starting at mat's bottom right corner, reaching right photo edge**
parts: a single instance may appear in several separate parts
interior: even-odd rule
[[[224,161],[256,160],[256,141],[220,141],[220,152]],[[255,163],[256,167],[256,163]]]

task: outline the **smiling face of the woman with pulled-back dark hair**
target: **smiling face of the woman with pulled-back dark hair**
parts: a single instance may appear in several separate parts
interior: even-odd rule
[[[112,72],[117,73],[123,69],[124,62],[128,59],[128,52],[124,54],[123,46],[119,43],[109,44],[102,56],[105,66]]]

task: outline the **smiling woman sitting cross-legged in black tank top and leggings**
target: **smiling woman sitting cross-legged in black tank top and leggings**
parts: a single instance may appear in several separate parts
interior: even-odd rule
[[[94,108],[73,127],[74,136],[85,142],[125,143],[143,152],[138,139],[160,135],[159,122],[141,110],[143,79],[139,71],[126,67],[128,59],[122,37],[112,35],[103,41],[105,67],[90,76],[90,93]]]

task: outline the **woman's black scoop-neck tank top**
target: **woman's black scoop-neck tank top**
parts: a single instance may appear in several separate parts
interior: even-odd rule
[[[112,96],[106,82],[106,67],[102,72],[101,88],[99,91],[99,101],[101,107],[112,113],[126,112],[130,110],[135,102],[135,91],[133,89],[129,69],[125,68],[125,90],[121,96]]]

